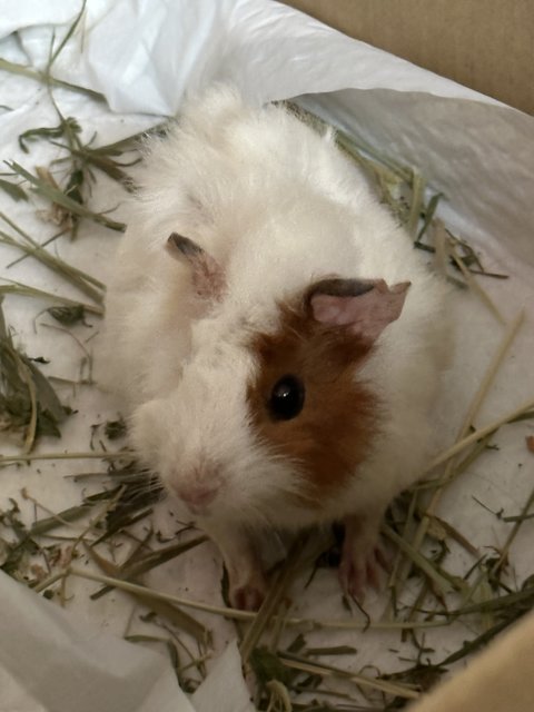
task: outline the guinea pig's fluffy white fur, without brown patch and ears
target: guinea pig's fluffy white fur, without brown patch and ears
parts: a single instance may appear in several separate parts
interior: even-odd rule
[[[382,512],[428,455],[448,339],[442,281],[332,135],[280,108],[253,110],[214,89],[154,142],[146,164],[107,305],[107,379],[129,403],[135,447],[171,494],[214,467],[221,473],[214,522],[299,526]],[[172,231],[224,268],[227,291],[207,314],[188,266],[164,248]],[[257,364],[247,344],[276,329],[276,300],[332,275],[412,286],[359,376],[383,403],[380,437],[348,491],[317,513],[289,504],[301,474],[254,432],[245,396]]]

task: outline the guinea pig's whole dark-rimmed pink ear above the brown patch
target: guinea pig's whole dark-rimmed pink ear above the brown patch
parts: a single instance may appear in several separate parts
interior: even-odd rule
[[[312,285],[306,301],[316,322],[346,326],[373,343],[400,316],[409,284],[389,287],[384,279],[323,279]]]

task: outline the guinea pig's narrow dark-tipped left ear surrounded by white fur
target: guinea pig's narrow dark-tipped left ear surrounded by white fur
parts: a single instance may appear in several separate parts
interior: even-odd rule
[[[188,237],[172,233],[167,240],[167,251],[191,268],[192,286],[201,299],[220,300],[226,286],[220,265]]]

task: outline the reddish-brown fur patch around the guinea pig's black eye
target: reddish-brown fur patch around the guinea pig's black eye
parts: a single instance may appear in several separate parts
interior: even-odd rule
[[[317,506],[355,475],[376,434],[377,398],[355,375],[372,346],[344,327],[316,322],[306,299],[279,309],[279,329],[251,344],[259,372],[248,400],[260,435],[306,474],[303,500]],[[287,374],[304,383],[305,403],[295,418],[277,421],[270,393]]]

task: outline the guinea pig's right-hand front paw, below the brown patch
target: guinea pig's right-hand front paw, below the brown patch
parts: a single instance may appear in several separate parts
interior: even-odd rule
[[[383,572],[388,568],[387,556],[378,542],[377,521],[346,517],[338,572],[343,592],[363,603],[366,589],[379,589]]]

